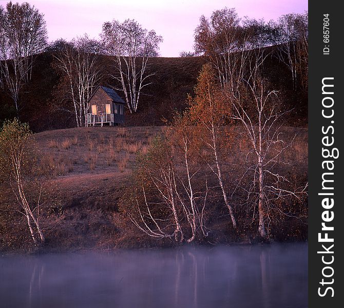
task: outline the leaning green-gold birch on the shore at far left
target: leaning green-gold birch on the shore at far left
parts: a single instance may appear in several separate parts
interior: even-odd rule
[[[0,175],[8,183],[17,200],[17,213],[25,217],[34,244],[43,244],[45,237],[39,221],[43,187],[39,188],[37,200],[29,198],[28,184],[37,172],[34,144],[27,124],[17,119],[5,122],[0,131]]]

